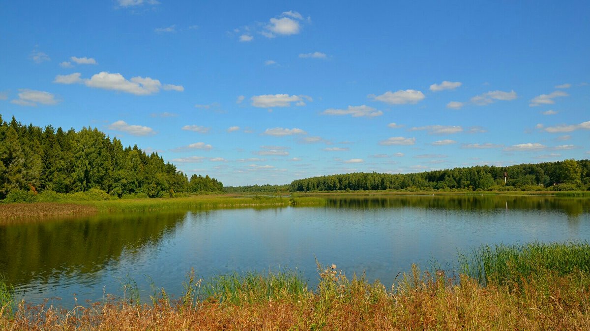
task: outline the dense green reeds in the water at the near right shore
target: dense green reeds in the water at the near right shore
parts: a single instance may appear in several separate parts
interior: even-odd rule
[[[459,272],[481,284],[520,282],[546,272],[560,276],[581,272],[590,274],[588,241],[567,243],[483,244],[470,252],[458,253]]]

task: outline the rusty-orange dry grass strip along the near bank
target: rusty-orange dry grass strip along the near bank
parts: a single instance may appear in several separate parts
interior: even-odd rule
[[[248,284],[238,300],[180,299],[165,292],[154,304],[107,299],[71,310],[21,302],[0,316],[2,330],[589,330],[590,279],[546,271],[513,286],[488,284],[417,266],[394,286],[348,279],[336,266],[320,266],[316,290],[278,291],[252,300]],[[261,276],[262,277],[262,276]],[[196,284],[195,284],[196,286]],[[200,288],[201,282],[198,282]],[[187,292],[191,296],[192,292]],[[226,293],[227,294],[227,293]],[[240,297],[242,300],[240,300]]]

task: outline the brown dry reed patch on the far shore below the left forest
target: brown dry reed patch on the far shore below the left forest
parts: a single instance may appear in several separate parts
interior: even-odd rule
[[[14,203],[0,204],[0,223],[10,220],[75,216],[96,213],[96,207],[73,203]]]

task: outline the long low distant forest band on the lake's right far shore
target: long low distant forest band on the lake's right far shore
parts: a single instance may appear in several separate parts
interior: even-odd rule
[[[504,173],[507,173],[506,183],[504,183]],[[573,191],[588,189],[590,189],[589,160],[517,164],[509,167],[476,166],[413,174],[337,174],[294,180],[290,185],[290,191]]]

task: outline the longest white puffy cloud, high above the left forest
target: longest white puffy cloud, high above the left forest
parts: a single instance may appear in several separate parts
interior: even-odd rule
[[[180,85],[166,84],[162,85],[159,80],[149,77],[132,77],[127,80],[122,74],[111,74],[110,72],[101,71],[91,78],[81,78],[80,72],[74,72],[70,75],[55,76],[55,83],[58,84],[76,84],[81,83],[87,87],[102,88],[104,90],[113,90],[126,92],[135,95],[149,95],[163,90],[184,91]]]

